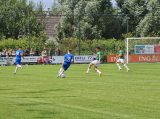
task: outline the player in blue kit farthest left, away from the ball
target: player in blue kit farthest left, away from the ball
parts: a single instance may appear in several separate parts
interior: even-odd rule
[[[17,73],[18,67],[21,67],[21,69],[23,69],[23,66],[20,65],[21,57],[23,57],[23,55],[22,55],[22,47],[19,47],[19,49],[16,51],[16,59],[15,59],[15,61],[16,61],[16,69],[15,69],[14,74]],[[23,59],[24,59],[24,57],[23,57]]]

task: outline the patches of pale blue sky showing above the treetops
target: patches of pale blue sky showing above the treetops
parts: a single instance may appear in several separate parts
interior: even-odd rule
[[[39,0],[33,0],[35,3],[39,2]],[[116,2],[115,0],[111,0],[113,5],[115,6]],[[51,8],[52,4],[53,4],[54,0],[43,0],[43,3],[45,5],[45,10],[47,10],[47,8]]]

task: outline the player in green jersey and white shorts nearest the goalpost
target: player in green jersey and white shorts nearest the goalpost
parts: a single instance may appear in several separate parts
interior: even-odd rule
[[[118,64],[119,62],[121,62],[121,63],[125,66],[125,68],[127,69],[127,72],[128,72],[129,69],[128,69],[127,65],[124,63],[123,51],[121,50],[121,46],[118,47],[118,50],[119,50],[119,55],[118,55],[119,60],[117,60],[117,62],[116,62],[117,66],[118,66],[118,68],[119,68],[118,71],[120,71],[120,70],[122,69],[122,68],[120,67],[120,65]]]

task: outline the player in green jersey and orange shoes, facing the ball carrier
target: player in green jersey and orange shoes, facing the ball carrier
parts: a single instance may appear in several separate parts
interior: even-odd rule
[[[92,61],[89,66],[88,66],[88,70],[87,72],[84,72],[85,74],[89,74],[89,70],[91,68],[92,65],[95,65],[94,66],[94,70],[97,71],[99,73],[99,76],[102,75],[102,72],[100,72],[97,68],[99,67],[100,65],[100,62],[101,62],[101,51],[100,51],[100,47],[96,47],[96,51],[97,51],[97,54],[93,54],[96,56],[96,60]]]

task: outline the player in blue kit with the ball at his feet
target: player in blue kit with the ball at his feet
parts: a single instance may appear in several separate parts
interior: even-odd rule
[[[69,68],[71,62],[73,62],[73,55],[71,54],[71,50],[68,50],[68,54],[64,56],[62,67],[59,70],[58,76],[56,78],[59,78],[63,72]]]

